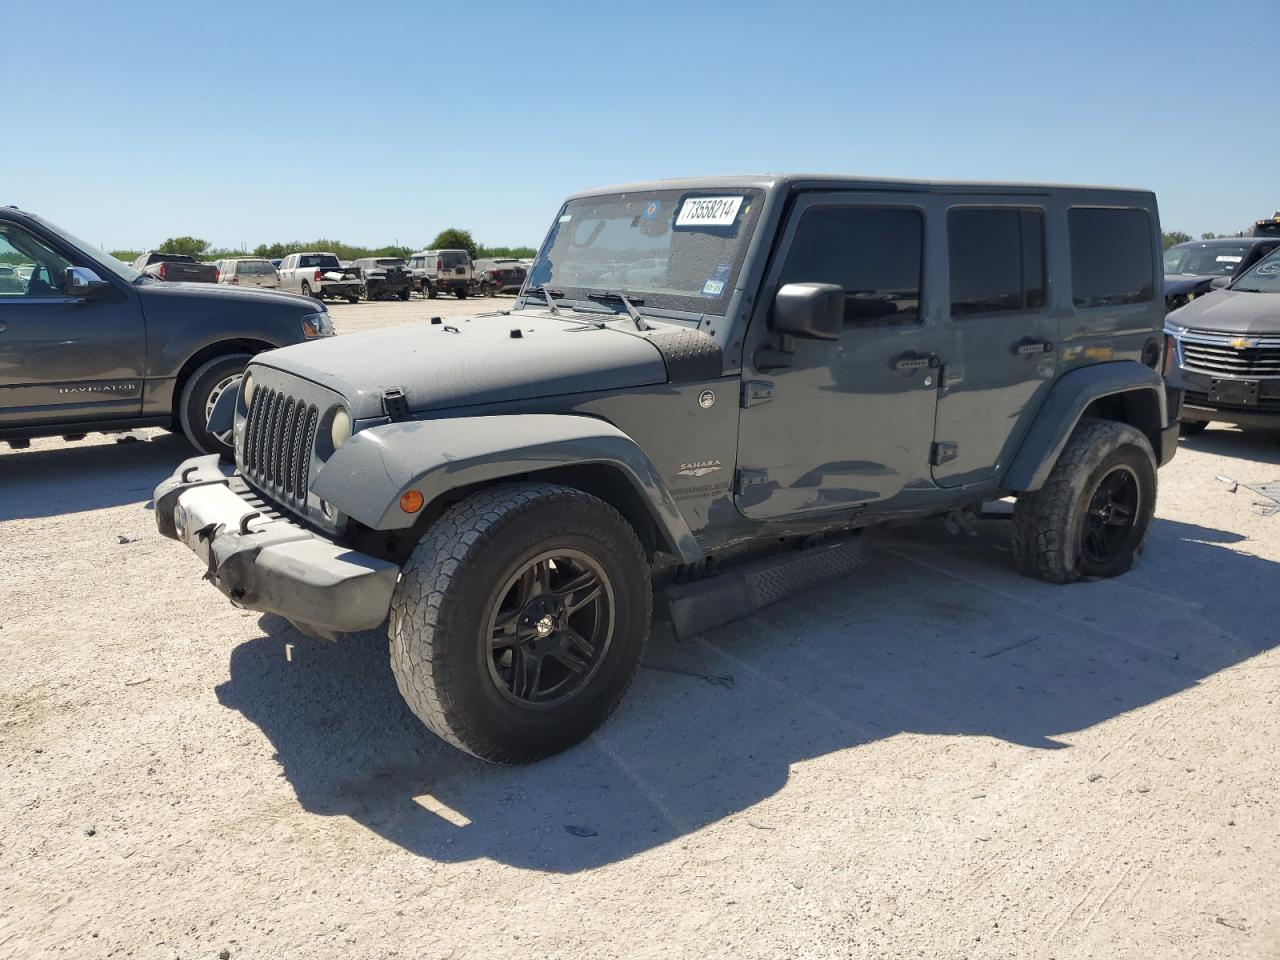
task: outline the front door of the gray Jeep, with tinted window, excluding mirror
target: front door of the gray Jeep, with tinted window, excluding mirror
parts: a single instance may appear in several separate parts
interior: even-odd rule
[[[942,349],[925,323],[927,195],[796,200],[762,288],[744,356],[737,506],[755,520],[854,512],[929,488]],[[837,342],[768,347],[773,294],[787,283],[845,289]],[[787,355],[781,355],[786,357]]]

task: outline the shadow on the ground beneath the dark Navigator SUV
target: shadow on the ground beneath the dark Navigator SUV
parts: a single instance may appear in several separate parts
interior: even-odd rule
[[[156,485],[195,456],[175,434],[0,453],[0,522],[150,500]]]

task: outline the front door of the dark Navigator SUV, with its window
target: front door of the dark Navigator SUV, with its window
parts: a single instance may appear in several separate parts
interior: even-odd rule
[[[0,429],[142,411],[138,300],[118,285],[96,300],[68,296],[72,265],[26,228],[0,220]]]

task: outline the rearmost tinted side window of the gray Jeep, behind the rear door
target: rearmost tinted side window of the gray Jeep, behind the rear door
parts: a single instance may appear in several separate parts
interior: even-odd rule
[[[1078,307],[1146,303],[1155,293],[1146,210],[1071,207],[1071,300]]]

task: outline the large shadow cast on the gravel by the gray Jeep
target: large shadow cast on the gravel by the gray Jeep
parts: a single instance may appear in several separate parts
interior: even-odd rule
[[[742,812],[808,758],[904,731],[1064,749],[1280,643],[1280,570],[1228,549],[1238,535],[1157,521],[1137,570],[1059,588],[1011,571],[1006,527],[881,536],[855,584],[686,643],[658,627],[618,714],[530,767],[428,733],[380,631],[329,644],[262,617],[218,698],[270,739],[311,813],[435,860],[575,872]]]

